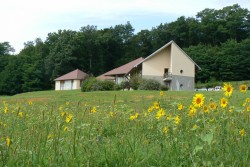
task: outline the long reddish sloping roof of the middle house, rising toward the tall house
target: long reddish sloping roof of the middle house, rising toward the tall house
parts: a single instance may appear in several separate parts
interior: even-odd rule
[[[127,63],[127,64],[124,64],[124,65],[122,65],[122,66],[120,66],[120,67],[118,67],[118,68],[115,68],[115,69],[113,69],[113,70],[110,70],[110,71],[106,72],[106,73],[103,74],[103,75],[105,75],[105,76],[115,76],[115,75],[123,75],[123,74],[125,75],[125,74],[127,74],[132,68],[134,68],[134,66],[135,66],[136,64],[138,64],[138,63],[141,62],[141,61],[143,61],[143,58],[142,58],[142,57],[140,57],[140,58],[138,58],[138,59],[136,59],[136,60],[133,60],[133,61]]]

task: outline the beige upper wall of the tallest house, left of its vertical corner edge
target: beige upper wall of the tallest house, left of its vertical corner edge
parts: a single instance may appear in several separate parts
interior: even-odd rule
[[[142,63],[142,75],[163,76],[165,68],[171,72],[170,62],[170,47],[167,47]]]

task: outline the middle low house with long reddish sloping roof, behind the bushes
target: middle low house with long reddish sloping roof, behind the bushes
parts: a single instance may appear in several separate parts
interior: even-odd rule
[[[128,72],[131,71],[134,66],[143,60],[142,57],[133,60],[127,64],[124,64],[118,68],[108,71],[97,77],[99,80],[113,80],[116,84],[120,84],[122,81],[129,80]]]

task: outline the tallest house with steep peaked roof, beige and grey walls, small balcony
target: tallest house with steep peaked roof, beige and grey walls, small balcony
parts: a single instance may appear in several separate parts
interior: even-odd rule
[[[174,41],[136,64],[126,75],[154,79],[169,90],[194,90],[195,71],[201,69]]]

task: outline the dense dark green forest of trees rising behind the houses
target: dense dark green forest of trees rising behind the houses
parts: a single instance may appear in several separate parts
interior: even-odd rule
[[[93,76],[139,57],[147,57],[174,40],[201,68],[196,82],[250,80],[250,12],[238,4],[204,9],[195,17],[179,17],[135,33],[126,24],[79,31],[58,30],[24,43],[11,54],[0,43],[0,94],[54,89],[54,79],[80,69]]]

